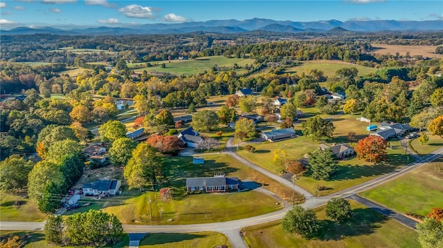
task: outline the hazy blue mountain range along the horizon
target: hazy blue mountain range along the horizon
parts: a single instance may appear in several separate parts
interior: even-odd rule
[[[275,21],[272,19],[246,19],[238,21],[210,20],[190,21],[184,23],[153,23],[119,27],[77,27],[77,28],[28,28],[18,27],[1,30],[2,35],[32,35],[47,33],[52,35],[143,35],[143,34],[172,34],[187,32],[217,32],[240,33],[248,31],[269,32],[378,32],[378,31],[437,31],[443,30],[443,20],[435,21]]]

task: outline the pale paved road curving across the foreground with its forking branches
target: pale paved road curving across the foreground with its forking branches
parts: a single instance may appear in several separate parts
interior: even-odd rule
[[[251,168],[256,167],[255,164],[248,162],[248,160],[244,160],[244,158],[239,157],[236,153],[232,151],[232,146],[230,146],[230,151],[227,152],[229,155],[233,155],[234,158],[239,158],[239,161],[244,162],[246,165],[251,166]],[[332,195],[326,195],[322,197],[314,197],[305,190],[302,190],[300,193],[305,193],[307,200],[305,203],[301,204],[302,207],[305,208],[314,208],[320,207],[325,204],[327,200],[332,197],[341,196],[341,197],[350,197],[355,193],[359,193],[361,191],[365,191],[367,189],[371,189],[372,187],[376,187],[379,184],[383,184],[384,182],[388,182],[395,178],[398,178],[405,173],[418,169],[428,162],[432,162],[433,160],[440,158],[443,153],[443,148],[434,151],[433,153],[427,155],[422,158],[421,161],[413,162],[407,164],[406,166],[393,171],[392,173],[388,173],[382,175],[379,178],[374,178],[373,180],[369,180],[367,182],[363,182],[362,184],[356,185],[354,187],[350,187],[343,191],[339,191]],[[288,187],[292,187],[291,183],[283,178],[280,178],[276,175],[269,174],[269,171],[262,169],[261,167],[257,168],[257,171],[264,173],[265,175],[269,175],[278,182],[284,182],[284,185]],[[276,177],[276,178],[275,178]],[[284,181],[280,181],[284,180]],[[300,188],[298,188],[300,189]],[[215,222],[215,223],[207,223],[207,224],[195,224],[195,225],[123,225],[126,233],[186,233],[186,232],[197,232],[197,231],[219,231],[221,233],[226,234],[229,238],[233,247],[246,247],[242,236],[239,234],[239,230],[242,227],[248,227],[251,225],[258,225],[265,222],[270,222],[273,220],[280,220],[283,218],[284,214],[289,211],[291,207],[285,207],[279,211],[275,211],[273,213],[266,213],[262,216],[255,216],[251,218],[245,218],[242,220],[231,220],[227,222]],[[44,227],[44,222],[0,222],[1,230],[42,230]]]

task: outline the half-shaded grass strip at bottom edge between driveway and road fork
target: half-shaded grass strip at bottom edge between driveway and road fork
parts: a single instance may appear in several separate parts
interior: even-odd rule
[[[148,233],[141,240],[142,248],[207,248],[217,245],[232,247],[221,233],[205,231],[199,233]]]

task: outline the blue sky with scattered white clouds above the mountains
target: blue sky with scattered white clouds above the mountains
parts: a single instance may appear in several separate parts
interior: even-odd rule
[[[112,1],[0,0],[0,26],[127,26],[143,23],[251,19],[443,19],[443,1]]]

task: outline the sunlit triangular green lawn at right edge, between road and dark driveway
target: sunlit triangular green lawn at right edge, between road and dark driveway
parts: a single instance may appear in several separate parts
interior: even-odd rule
[[[361,195],[400,213],[426,216],[434,207],[443,207],[443,171],[435,170],[437,165],[443,166],[443,158]]]

